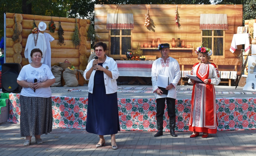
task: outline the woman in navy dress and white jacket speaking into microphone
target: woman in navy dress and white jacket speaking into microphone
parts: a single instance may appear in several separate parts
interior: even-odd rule
[[[106,49],[106,43],[95,44],[98,59],[88,63],[83,75],[89,80],[86,131],[99,135],[96,147],[105,145],[104,135],[111,135],[112,149],[117,149],[115,134],[120,131],[120,125],[116,79],[119,72],[114,59],[106,56]]]

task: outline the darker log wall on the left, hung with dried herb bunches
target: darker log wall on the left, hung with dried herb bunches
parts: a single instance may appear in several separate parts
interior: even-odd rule
[[[19,40],[15,42],[12,40],[15,17],[19,32]],[[55,32],[52,33],[49,30],[50,20],[54,21],[56,25]],[[51,17],[51,16],[38,16],[38,15],[26,15],[26,14],[13,14],[6,13],[6,63],[20,63],[22,66],[29,64],[28,59],[24,56],[25,47],[27,44],[28,35],[33,28],[33,22],[35,20],[38,26],[41,21],[46,23],[46,30],[40,31],[41,33],[50,34],[55,40],[50,42],[51,45],[51,66],[58,65],[59,62],[64,62],[68,59],[69,62],[75,66],[76,69],[85,70],[88,64],[88,58],[91,54],[91,42],[87,38],[88,28],[91,24],[88,19],[77,19],[78,29],[81,35],[81,44],[79,48],[75,48],[72,42],[72,36],[74,34],[76,19],[64,18],[64,17]],[[59,36],[59,21],[61,27],[64,30],[64,39],[66,44],[61,46],[58,44]]]

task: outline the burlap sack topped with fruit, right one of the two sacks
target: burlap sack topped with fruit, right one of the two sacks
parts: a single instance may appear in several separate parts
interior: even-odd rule
[[[63,72],[63,79],[65,81],[65,85],[63,87],[77,87],[78,81],[77,81],[77,70],[71,70],[66,68],[66,70]]]

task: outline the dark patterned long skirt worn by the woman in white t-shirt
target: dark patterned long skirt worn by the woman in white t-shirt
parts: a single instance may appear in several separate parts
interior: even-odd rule
[[[47,134],[52,131],[51,97],[20,95],[20,136]]]

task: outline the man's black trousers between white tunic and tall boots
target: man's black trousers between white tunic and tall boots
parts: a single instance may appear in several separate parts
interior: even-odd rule
[[[165,108],[165,99],[168,108],[168,116],[170,119],[176,120],[175,114],[175,100],[174,98],[166,97],[166,98],[158,98],[156,99],[156,118],[162,118],[164,116],[164,108]]]

